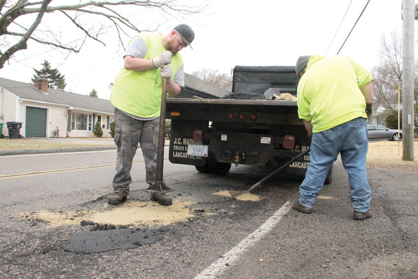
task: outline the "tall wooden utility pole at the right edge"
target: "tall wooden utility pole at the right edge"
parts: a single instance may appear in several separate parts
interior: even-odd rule
[[[414,0],[402,6],[402,160],[414,161]]]

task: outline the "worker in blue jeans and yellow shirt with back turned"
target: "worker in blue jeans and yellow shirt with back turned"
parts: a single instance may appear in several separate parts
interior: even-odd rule
[[[346,56],[301,56],[296,63],[299,118],[311,139],[311,162],[293,209],[312,213],[328,170],[341,154],[349,174],[353,218],[372,217],[367,182],[367,117],[372,111],[370,71]]]

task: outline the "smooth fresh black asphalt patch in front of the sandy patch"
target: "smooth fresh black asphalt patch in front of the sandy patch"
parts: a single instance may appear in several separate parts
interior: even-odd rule
[[[81,232],[66,240],[61,247],[67,252],[91,254],[116,249],[133,249],[160,240],[162,235],[158,231],[115,229]]]

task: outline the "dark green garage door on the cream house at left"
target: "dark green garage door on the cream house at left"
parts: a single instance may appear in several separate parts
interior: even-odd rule
[[[25,137],[46,137],[46,108],[26,107]]]

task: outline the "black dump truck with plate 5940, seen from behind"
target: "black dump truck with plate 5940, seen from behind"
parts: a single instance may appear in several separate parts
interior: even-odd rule
[[[310,147],[297,114],[298,82],[294,66],[236,66],[226,98],[168,98],[169,161],[212,174],[227,174],[239,165],[285,165]],[[267,94],[272,90],[278,94]],[[309,162],[308,153],[283,173],[301,181]],[[325,184],[331,180],[332,168]]]

